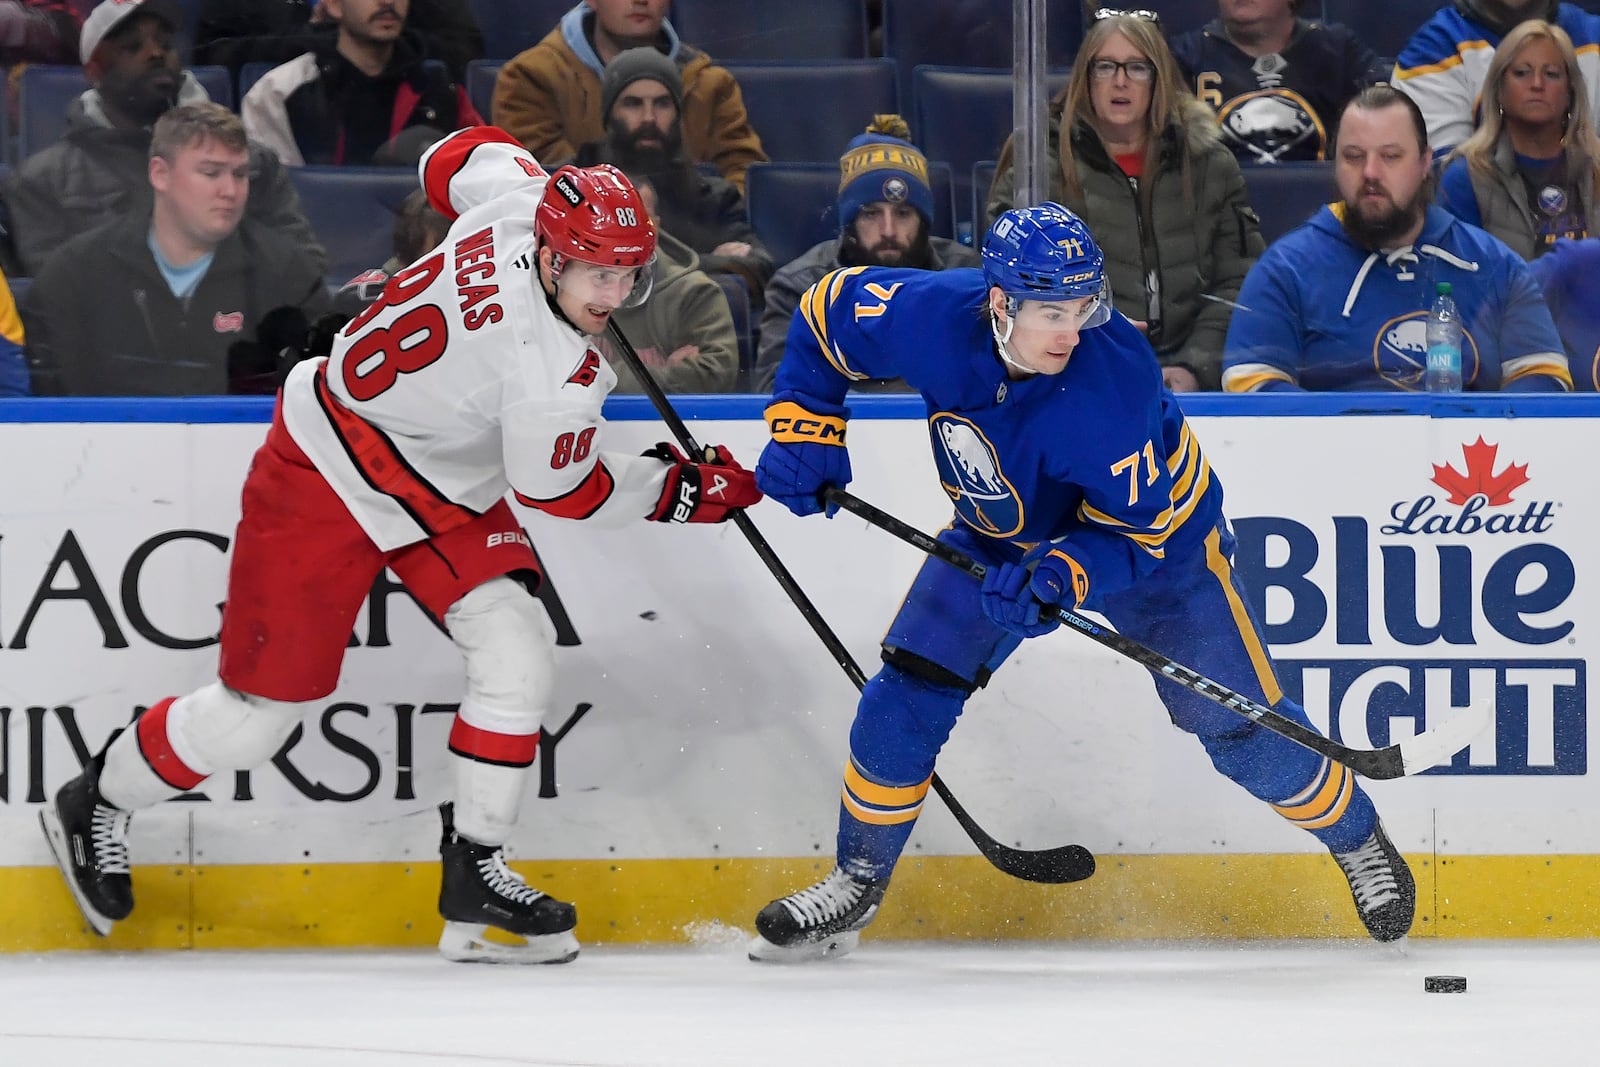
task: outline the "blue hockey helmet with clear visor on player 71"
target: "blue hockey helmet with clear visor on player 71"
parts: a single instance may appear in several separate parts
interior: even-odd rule
[[[1014,315],[1022,301],[1098,299],[1082,330],[1110,320],[1106,254],[1090,227],[1059,203],[1011,208],[989,227],[982,248],[984,280],[1006,296]]]

